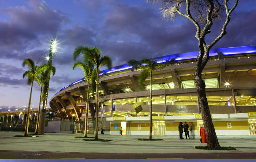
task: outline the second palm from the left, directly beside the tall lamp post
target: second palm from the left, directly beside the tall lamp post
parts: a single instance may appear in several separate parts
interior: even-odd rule
[[[46,82],[46,78],[49,75],[49,71],[52,71],[52,76],[54,76],[56,69],[54,66],[50,64],[42,64],[42,66],[49,66],[47,69],[44,70],[44,68],[39,68],[37,72],[37,77],[35,78],[35,81],[38,83],[39,86],[41,86],[41,91],[40,91],[40,99],[39,99],[39,106],[38,106],[38,112],[37,112],[37,123],[35,126],[35,134],[38,134],[38,128],[39,128],[39,119],[40,119],[40,109],[41,109],[41,102],[42,102],[42,90],[43,86]]]

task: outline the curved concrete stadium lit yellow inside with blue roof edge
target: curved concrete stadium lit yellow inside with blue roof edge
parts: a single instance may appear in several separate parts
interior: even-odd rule
[[[158,63],[175,58],[176,64],[153,72],[153,134],[177,135],[179,122],[193,122],[195,134],[203,126],[197,107],[194,83],[196,52],[153,58]],[[99,74],[99,129],[106,134],[149,134],[149,91],[139,89],[141,69],[127,64]],[[217,135],[255,135],[256,133],[256,46],[218,48],[202,72],[206,95]],[[150,79],[146,80],[149,84]],[[50,107],[64,120],[85,118],[87,82],[84,78],[62,88],[50,100]],[[95,92],[90,91],[89,131],[93,133]],[[143,110],[138,114],[132,104]]]

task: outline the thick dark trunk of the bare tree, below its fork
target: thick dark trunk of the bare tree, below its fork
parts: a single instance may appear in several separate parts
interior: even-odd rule
[[[208,52],[209,54],[209,51],[208,50],[204,51],[203,47],[199,46],[199,49],[200,49],[199,56],[200,56],[200,53],[204,54],[204,52]],[[204,130],[206,133],[207,146],[218,147],[219,142],[218,142],[217,135],[215,133],[214,125],[212,123],[210,109],[209,109],[207,98],[206,98],[205,83],[204,83],[204,80],[202,79],[202,71],[203,71],[203,67],[201,66],[202,59],[200,60],[199,56],[196,59],[197,66],[195,70],[195,84],[197,88],[198,107],[199,107],[199,110],[201,110],[202,112],[202,120],[204,124]]]

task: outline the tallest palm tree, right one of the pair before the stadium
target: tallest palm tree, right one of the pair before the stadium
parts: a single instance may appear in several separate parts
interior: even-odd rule
[[[83,54],[83,60],[90,60],[96,66],[96,127],[95,127],[95,139],[98,139],[98,126],[99,126],[99,67],[107,66],[108,68],[112,67],[112,60],[109,56],[101,56],[101,50],[98,47],[90,48],[87,46],[78,46],[76,47],[73,57],[74,60],[80,55]]]

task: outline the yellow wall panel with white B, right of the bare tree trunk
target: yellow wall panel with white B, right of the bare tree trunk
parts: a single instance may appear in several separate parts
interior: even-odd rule
[[[228,123],[228,125],[227,125]],[[231,125],[230,125],[231,123]],[[215,130],[248,130],[248,121],[223,121],[213,122]]]

